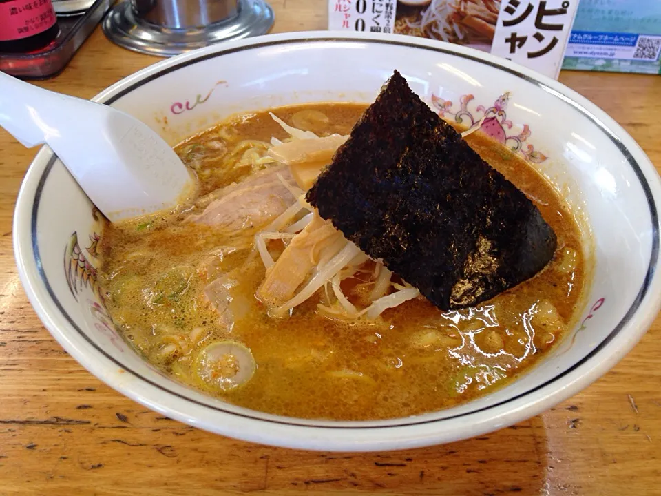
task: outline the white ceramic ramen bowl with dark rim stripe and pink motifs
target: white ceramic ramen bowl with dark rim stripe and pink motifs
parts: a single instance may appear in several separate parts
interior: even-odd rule
[[[171,143],[232,114],[311,101],[371,102],[398,69],[445,118],[494,117],[591,227],[587,305],[536,368],[479,400],[418,417],[330,422],[266,415],[215,400],[154,369],[123,342],[96,296],[92,204],[48,149],[32,163],[14,218],[23,286],[56,340],[114,389],[163,415],[244,440],[370,451],[450,442],[532,417],[608,371],[641,338],[661,300],[658,174],[631,136],[567,87],[457,45],[329,32],[224,43],[152,65],[94,100]]]

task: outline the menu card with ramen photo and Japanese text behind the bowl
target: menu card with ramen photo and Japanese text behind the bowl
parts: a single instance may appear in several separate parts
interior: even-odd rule
[[[468,46],[557,78],[578,0],[328,0],[328,29]]]

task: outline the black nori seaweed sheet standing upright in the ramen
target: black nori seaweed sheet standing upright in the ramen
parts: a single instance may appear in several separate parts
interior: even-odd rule
[[[556,249],[537,207],[397,71],[306,198],[443,310],[531,278]]]

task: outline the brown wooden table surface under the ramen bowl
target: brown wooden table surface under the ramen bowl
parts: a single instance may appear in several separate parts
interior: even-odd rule
[[[275,32],[324,29],[326,0],[271,0]],[[90,98],[158,59],[101,30],[40,86]],[[661,77],[563,72],[661,163]],[[36,318],[12,253],[12,213],[34,150],[0,130],[0,496],[661,495],[661,318],[613,371],[496,433],[412,451],[269,448],[148,411],[70,358]]]

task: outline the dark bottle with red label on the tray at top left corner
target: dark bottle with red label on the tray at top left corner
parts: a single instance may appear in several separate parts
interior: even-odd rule
[[[32,52],[59,32],[51,0],[0,0],[0,52]]]

